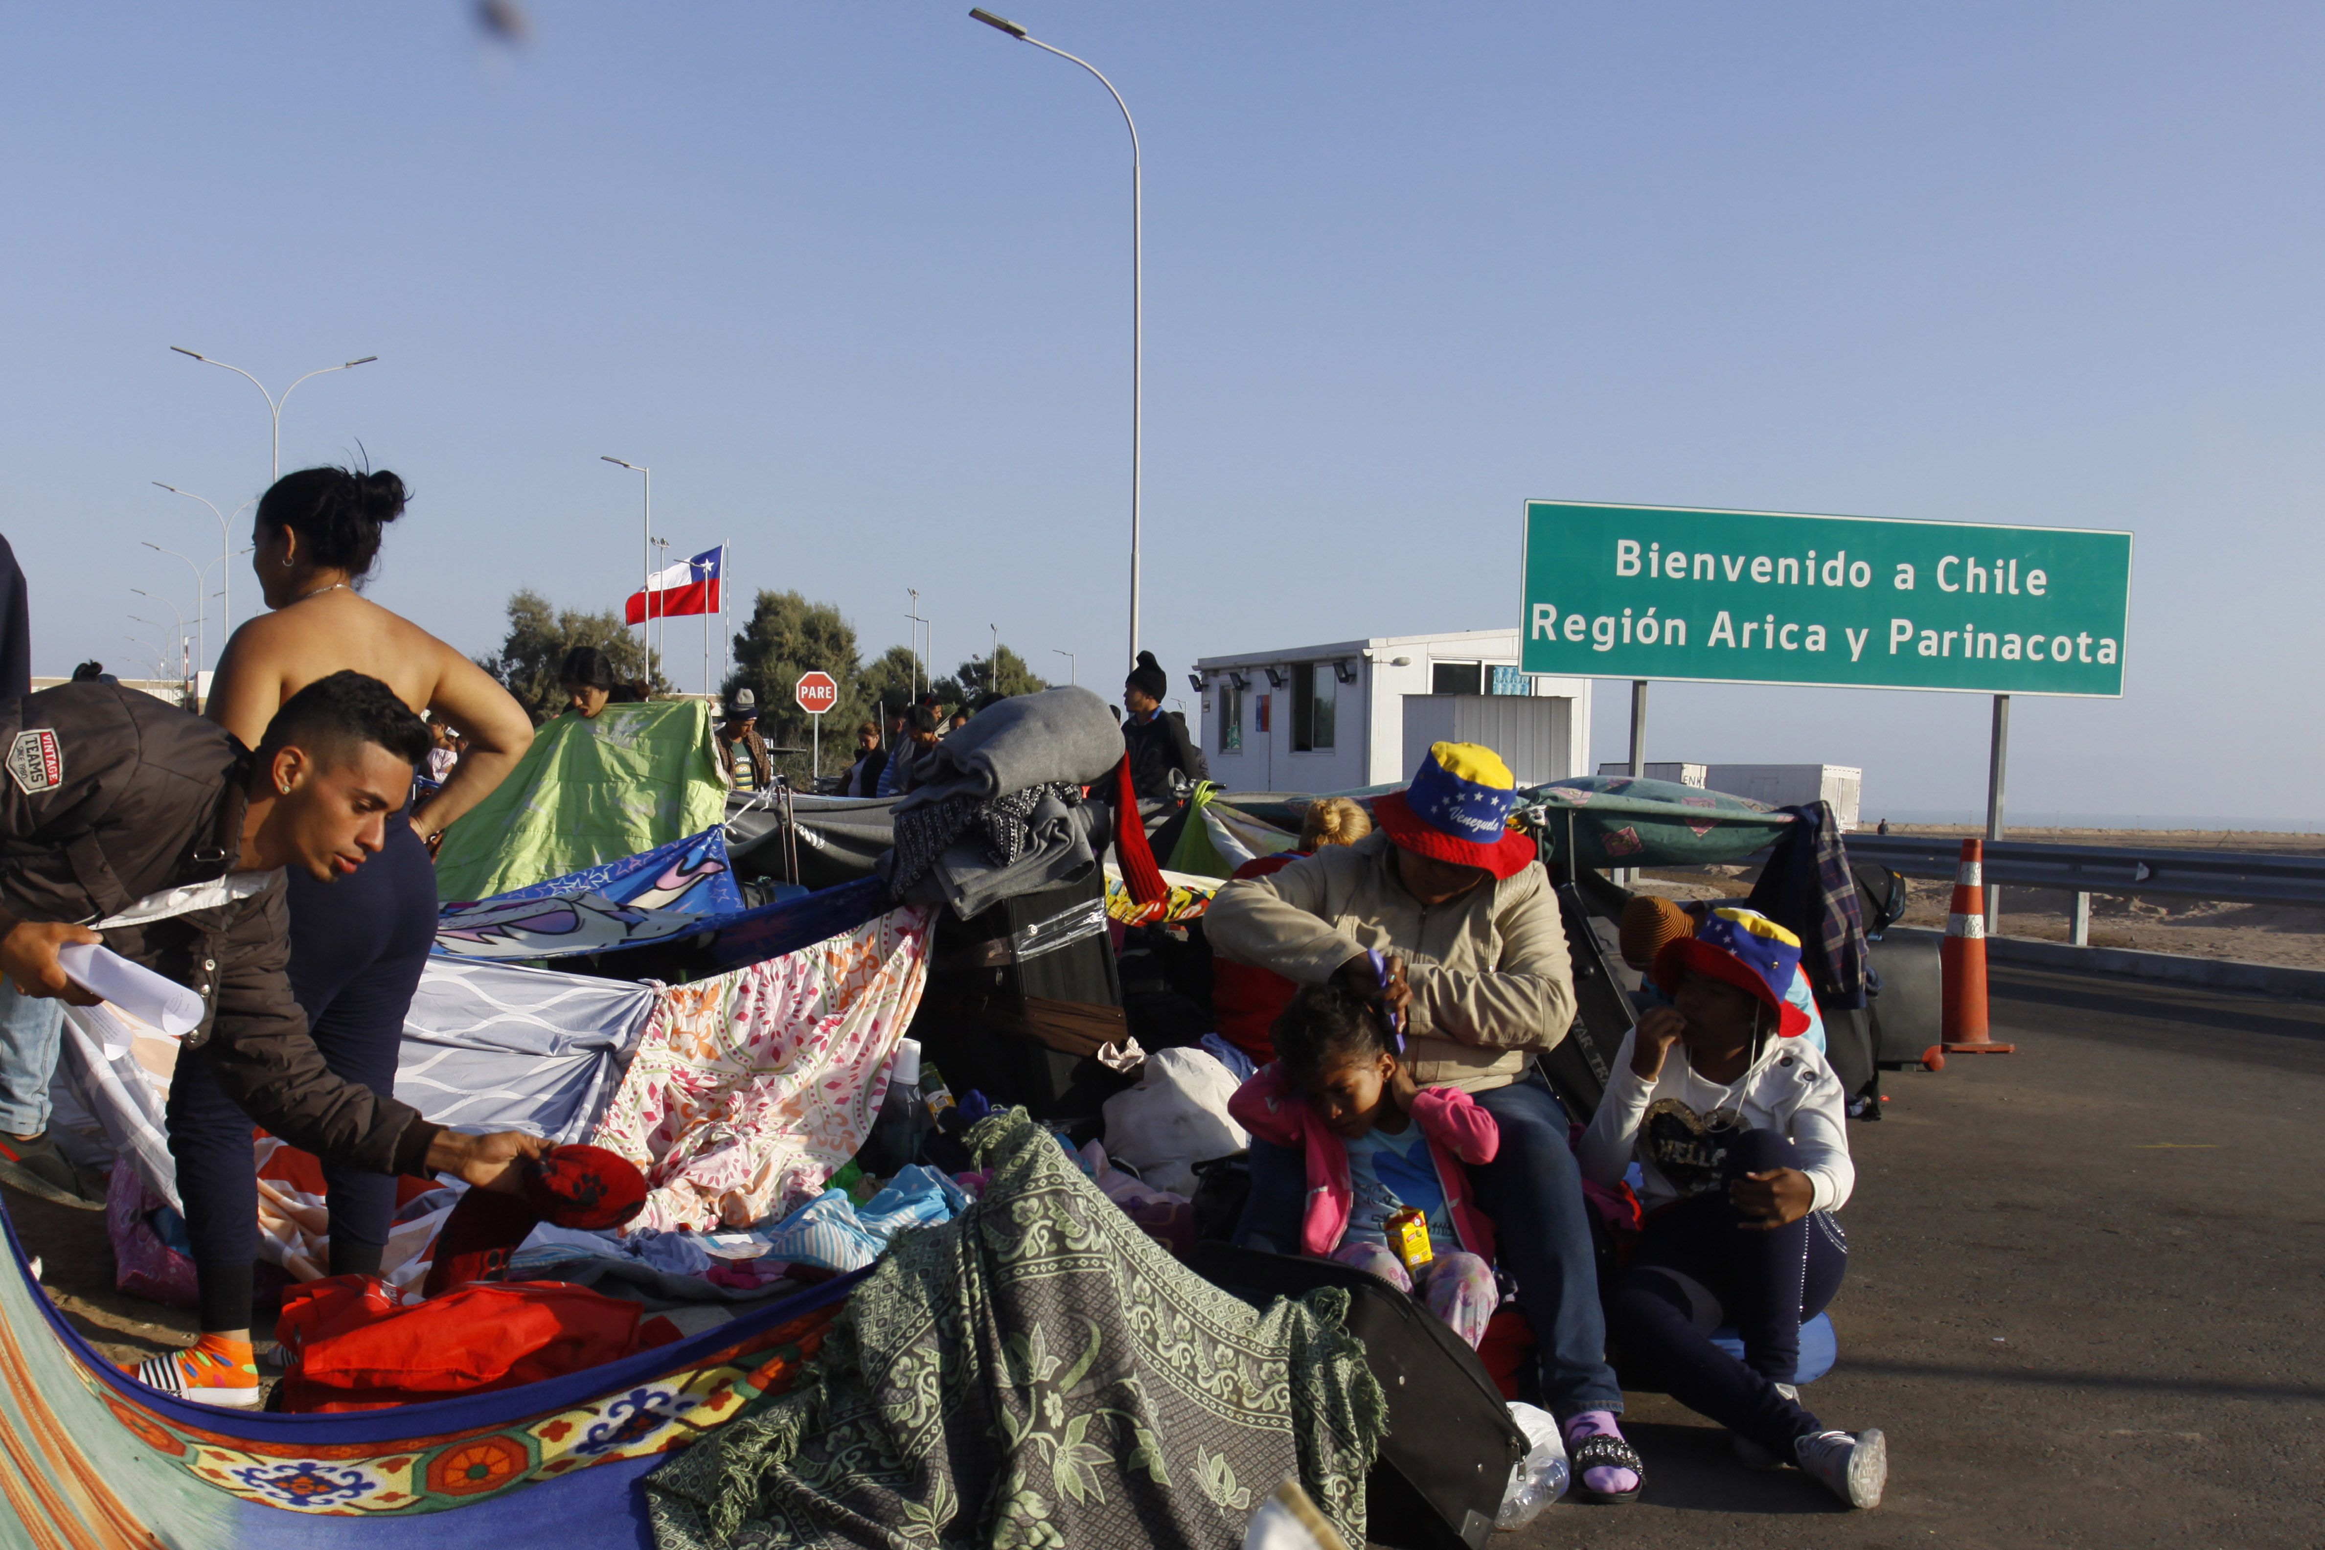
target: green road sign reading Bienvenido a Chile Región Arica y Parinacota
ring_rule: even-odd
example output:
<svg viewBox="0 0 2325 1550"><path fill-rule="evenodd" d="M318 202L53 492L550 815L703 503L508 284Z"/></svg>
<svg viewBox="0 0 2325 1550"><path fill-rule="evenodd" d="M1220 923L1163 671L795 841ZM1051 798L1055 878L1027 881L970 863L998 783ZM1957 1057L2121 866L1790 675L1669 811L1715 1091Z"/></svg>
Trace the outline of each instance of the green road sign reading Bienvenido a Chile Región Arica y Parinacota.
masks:
<svg viewBox="0 0 2325 1550"><path fill-rule="evenodd" d="M1530 674L2123 695L2132 534L1525 502Z"/></svg>

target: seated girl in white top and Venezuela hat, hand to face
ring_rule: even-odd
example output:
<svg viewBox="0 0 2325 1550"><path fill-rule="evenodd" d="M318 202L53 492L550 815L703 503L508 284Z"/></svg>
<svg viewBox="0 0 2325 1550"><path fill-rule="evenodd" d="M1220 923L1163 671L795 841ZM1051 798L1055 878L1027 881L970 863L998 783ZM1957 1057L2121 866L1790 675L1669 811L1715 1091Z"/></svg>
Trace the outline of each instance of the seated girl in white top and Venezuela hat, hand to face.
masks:
<svg viewBox="0 0 2325 1550"><path fill-rule="evenodd" d="M1809 1020L1786 1002L1800 939L1748 909L1716 909L1655 953L1672 997L1639 1018L1581 1143L1586 1178L1637 1160L1646 1222L1607 1297L1623 1371L1737 1434L1755 1466L1800 1464L1851 1506L1879 1506L1879 1431L1830 1431L1793 1390L1800 1322L1841 1285L1848 1239L1846 1097ZM1737 1362L1711 1343L1734 1325Z"/></svg>

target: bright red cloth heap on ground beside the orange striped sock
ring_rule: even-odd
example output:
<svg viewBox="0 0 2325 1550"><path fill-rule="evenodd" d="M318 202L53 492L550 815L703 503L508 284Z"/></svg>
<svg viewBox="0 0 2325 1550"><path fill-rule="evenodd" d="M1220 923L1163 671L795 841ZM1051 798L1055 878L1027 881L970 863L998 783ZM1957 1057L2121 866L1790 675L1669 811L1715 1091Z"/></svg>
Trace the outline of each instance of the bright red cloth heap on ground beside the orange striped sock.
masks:
<svg viewBox="0 0 2325 1550"><path fill-rule="evenodd" d="M488 1394L602 1366L679 1339L677 1325L621 1297L556 1280L467 1285L419 1301L377 1276L293 1287L274 1339L284 1408L377 1411Z"/></svg>

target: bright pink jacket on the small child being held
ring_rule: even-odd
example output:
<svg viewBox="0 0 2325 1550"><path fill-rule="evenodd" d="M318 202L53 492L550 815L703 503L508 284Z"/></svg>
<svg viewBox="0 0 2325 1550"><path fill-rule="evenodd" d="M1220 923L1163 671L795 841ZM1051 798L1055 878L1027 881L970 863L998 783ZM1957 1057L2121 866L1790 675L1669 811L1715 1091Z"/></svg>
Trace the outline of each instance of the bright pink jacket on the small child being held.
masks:
<svg viewBox="0 0 2325 1550"><path fill-rule="evenodd" d="M1300 1222L1300 1253L1325 1260L1348 1234L1348 1213L1355 1208L1355 1185L1348 1171L1348 1143L1302 1099L1283 1062L1258 1069L1235 1097L1228 1113L1260 1141L1297 1146L1307 1157L1309 1204ZM1502 1150L1502 1127L1493 1122L1460 1088L1423 1088L1414 1095L1414 1125L1430 1143L1430 1162L1437 1167L1437 1187L1446 1192L1446 1215L1453 1218L1453 1236L1472 1255L1493 1264L1493 1222L1469 1199L1469 1174L1465 1162L1493 1162Z"/></svg>

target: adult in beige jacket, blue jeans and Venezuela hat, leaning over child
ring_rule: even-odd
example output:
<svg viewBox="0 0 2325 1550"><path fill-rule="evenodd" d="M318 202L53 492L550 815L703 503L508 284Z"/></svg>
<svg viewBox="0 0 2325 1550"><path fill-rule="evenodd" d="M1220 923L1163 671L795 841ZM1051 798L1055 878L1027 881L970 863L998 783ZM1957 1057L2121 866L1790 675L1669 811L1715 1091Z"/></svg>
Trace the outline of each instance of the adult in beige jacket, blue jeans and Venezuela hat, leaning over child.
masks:
<svg viewBox="0 0 2325 1550"><path fill-rule="evenodd" d="M1535 1327L1541 1404L1565 1431L1576 1494L1630 1501L1639 1455L1616 1427L1623 1390L1607 1366L1581 1174L1567 1115L1532 1071L1567 1036L1574 976L1535 844L1507 827L1516 788L1493 748L1437 744L1404 792L1372 804L1372 834L1228 883L1204 934L1228 962L1295 985L1337 978L1379 1002L1402 1018L1414 1083L1460 1088L1493 1115L1500 1150L1467 1176ZM1297 1253L1304 1197L1302 1153L1253 1136L1237 1243Z"/></svg>

